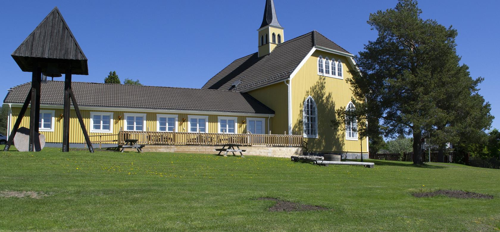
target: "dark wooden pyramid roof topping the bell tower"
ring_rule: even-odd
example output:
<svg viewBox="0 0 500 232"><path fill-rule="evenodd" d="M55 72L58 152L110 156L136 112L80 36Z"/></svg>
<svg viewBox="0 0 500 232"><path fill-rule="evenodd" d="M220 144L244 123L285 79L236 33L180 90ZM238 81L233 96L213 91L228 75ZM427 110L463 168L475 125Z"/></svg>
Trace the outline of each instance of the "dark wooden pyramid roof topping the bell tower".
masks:
<svg viewBox="0 0 500 232"><path fill-rule="evenodd" d="M87 57L57 7L48 13L11 56L24 72L31 72L33 59L37 59L39 64L69 62L72 74L88 75ZM45 66L40 67L44 72Z"/></svg>

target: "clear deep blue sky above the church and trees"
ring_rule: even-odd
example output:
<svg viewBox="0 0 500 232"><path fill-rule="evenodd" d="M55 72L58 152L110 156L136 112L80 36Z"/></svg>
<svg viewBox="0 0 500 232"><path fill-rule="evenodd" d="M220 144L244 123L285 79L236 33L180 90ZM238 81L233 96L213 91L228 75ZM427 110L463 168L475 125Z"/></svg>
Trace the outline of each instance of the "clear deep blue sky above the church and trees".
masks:
<svg viewBox="0 0 500 232"><path fill-rule="evenodd" d="M366 24L369 13L396 2L274 0L285 40L317 30L353 54L376 38ZM88 58L89 75L73 81L103 82L115 70L122 81L199 88L232 60L257 51L264 0L2 1L1 96L30 81L10 54L54 6ZM457 52L472 77L484 77L479 93L498 118L492 127L500 128L500 1L421 0L419 6L423 18L458 30Z"/></svg>

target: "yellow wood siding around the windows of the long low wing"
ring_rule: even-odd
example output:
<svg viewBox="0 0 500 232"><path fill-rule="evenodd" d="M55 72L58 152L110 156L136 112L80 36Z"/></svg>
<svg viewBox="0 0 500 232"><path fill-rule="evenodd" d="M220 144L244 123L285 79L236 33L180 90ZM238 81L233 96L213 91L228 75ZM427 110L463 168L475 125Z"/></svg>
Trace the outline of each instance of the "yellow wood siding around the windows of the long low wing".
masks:
<svg viewBox="0 0 500 232"><path fill-rule="evenodd" d="M41 110L55 110L55 120L54 120L54 131L40 131L40 134L45 135L45 141L48 143L62 143L62 119L59 115L62 114L62 109L54 109L54 108L45 108L40 107ZM12 125L10 130L12 130L13 124L19 115L20 107L12 107ZM236 127L237 133L243 134L246 133L246 122L243 124L243 120L246 121L246 118L262 118L265 119L265 128L264 131L267 130L267 117L258 117L258 116L232 116L230 114L220 114L220 115L204 115L204 114L175 114L175 113L167 113L167 112L130 112L130 111L112 111L112 110L80 110L81 116L83 118L83 122L85 124L85 128L87 130L88 135L111 135L118 134L120 130L124 129L124 114L125 113L143 113L146 114L146 123L145 130L146 131L156 131L156 115L157 114L169 114L169 115L177 115L178 116L178 130L177 132L188 132L187 128L187 120L188 115L202 115L208 116L208 133L217 133L218 129L218 117L237 117ZM112 133L90 133L90 112L112 112L113 113L113 131ZM118 120L118 117L121 116L121 120ZM83 133L81 132L80 124L78 122L78 118L76 117L76 113L73 109L71 109L70 114L70 122L69 122L69 142L70 143L84 143L85 138L83 137ZM185 122L182 119L185 118ZM26 111L26 115L22 118L20 127L29 128L29 108Z"/></svg>

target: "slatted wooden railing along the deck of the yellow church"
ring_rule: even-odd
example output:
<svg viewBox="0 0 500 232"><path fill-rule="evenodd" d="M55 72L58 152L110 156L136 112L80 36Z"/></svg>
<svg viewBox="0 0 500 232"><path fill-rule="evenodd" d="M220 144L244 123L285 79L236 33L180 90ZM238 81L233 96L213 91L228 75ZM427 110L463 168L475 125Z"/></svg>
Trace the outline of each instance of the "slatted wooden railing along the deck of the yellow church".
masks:
<svg viewBox="0 0 500 232"><path fill-rule="evenodd" d="M126 139L137 139L138 144L151 145L216 146L232 143L243 146L302 146L301 135L120 131L118 133L118 144L123 144Z"/></svg>

